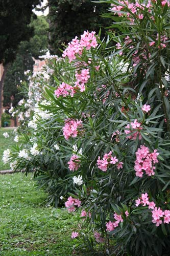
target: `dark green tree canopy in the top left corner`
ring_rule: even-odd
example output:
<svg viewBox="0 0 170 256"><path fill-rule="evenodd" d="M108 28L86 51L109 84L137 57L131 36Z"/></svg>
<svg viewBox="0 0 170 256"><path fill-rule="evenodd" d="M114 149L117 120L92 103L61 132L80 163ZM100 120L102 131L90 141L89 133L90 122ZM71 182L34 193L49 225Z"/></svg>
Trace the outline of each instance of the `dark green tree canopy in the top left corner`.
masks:
<svg viewBox="0 0 170 256"><path fill-rule="evenodd" d="M42 0L0 0L0 63L15 58L20 41L27 40L33 33L28 26L32 10Z"/></svg>

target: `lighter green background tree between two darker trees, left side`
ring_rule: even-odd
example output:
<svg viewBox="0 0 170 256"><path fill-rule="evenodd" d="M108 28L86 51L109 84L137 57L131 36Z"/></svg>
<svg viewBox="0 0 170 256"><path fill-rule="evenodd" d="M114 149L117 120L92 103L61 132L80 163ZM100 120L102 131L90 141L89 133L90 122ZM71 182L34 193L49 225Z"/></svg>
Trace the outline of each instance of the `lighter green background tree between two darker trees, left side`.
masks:
<svg viewBox="0 0 170 256"><path fill-rule="evenodd" d="M34 36L29 41L21 41L15 60L9 64L3 87L3 105L15 106L23 97L18 92L21 81L26 79L25 71L33 70L34 58L44 55L48 47L48 23L45 16L31 19L30 27L34 28Z"/></svg>

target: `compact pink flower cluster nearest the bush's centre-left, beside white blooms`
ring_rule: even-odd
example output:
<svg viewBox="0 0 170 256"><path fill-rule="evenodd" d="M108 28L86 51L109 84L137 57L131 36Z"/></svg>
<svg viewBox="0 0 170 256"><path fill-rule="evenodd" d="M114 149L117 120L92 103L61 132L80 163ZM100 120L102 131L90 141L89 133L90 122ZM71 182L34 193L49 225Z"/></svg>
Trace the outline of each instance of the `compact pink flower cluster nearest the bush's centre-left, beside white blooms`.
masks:
<svg viewBox="0 0 170 256"><path fill-rule="evenodd" d="M77 137L79 130L82 128L82 121L80 120L70 120L67 119L65 121L65 125L63 127L63 135L66 140L70 137Z"/></svg>

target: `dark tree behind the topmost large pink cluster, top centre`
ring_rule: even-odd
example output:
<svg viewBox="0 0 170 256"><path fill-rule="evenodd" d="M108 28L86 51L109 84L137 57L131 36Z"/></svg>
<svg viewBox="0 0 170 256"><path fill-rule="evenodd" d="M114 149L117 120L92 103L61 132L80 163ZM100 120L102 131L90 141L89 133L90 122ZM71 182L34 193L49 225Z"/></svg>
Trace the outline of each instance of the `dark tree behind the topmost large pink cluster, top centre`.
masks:
<svg viewBox="0 0 170 256"><path fill-rule="evenodd" d="M61 44L67 44L83 31L98 32L100 27L110 25L108 19L100 16L106 12L106 4L96 4L90 0L48 0L48 7L49 43L52 54L61 54L58 50L62 48Z"/></svg>

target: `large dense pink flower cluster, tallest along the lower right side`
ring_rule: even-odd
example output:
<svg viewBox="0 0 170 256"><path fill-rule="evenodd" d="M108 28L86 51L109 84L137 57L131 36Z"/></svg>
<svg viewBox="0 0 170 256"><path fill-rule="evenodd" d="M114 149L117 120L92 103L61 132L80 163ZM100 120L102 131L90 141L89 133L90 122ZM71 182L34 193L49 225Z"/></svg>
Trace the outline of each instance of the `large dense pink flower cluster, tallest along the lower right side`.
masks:
<svg viewBox="0 0 170 256"><path fill-rule="evenodd" d="M135 172L136 176L142 177L143 170L148 176L154 175L155 163L158 163L158 155L157 150L154 150L153 153L150 153L149 148L144 145L140 145L136 154L136 161L135 161Z"/></svg>

